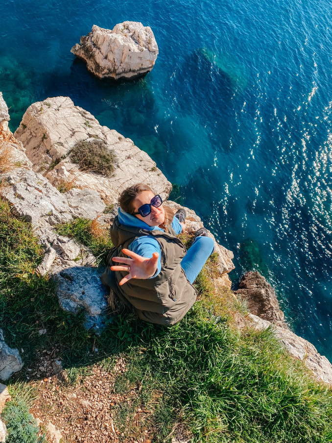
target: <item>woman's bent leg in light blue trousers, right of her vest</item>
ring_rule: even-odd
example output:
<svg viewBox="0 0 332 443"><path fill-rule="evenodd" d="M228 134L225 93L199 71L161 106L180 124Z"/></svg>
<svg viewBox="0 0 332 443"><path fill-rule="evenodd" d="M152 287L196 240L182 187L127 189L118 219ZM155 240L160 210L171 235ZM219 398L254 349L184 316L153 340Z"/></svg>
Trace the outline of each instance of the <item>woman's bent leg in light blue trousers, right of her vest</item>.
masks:
<svg viewBox="0 0 332 443"><path fill-rule="evenodd" d="M181 261L190 283L193 283L209 256L213 253L214 241L211 237L196 237L187 254Z"/></svg>

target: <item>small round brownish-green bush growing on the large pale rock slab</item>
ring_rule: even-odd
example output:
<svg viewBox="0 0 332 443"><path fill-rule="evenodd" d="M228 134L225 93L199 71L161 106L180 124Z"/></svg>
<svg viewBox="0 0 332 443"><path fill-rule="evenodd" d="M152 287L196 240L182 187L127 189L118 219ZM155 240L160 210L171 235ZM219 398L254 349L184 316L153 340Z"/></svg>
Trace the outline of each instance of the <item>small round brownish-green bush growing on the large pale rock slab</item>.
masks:
<svg viewBox="0 0 332 443"><path fill-rule="evenodd" d="M71 149L71 160L81 171L94 171L110 176L114 171L115 154L100 139L82 140Z"/></svg>

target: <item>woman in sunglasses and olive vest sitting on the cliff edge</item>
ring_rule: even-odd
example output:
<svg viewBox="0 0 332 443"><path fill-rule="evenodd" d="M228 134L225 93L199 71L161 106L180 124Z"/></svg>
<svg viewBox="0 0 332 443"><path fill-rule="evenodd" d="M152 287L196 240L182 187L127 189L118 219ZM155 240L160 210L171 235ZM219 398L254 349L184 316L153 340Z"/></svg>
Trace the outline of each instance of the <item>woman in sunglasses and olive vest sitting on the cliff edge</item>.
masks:
<svg viewBox="0 0 332 443"><path fill-rule="evenodd" d="M111 227L115 248L101 280L129 302L140 319L175 324L196 299L192 283L213 252L213 239L201 228L187 252L176 237L185 230L185 210L179 209L174 217L162 198L143 183L125 189L119 205Z"/></svg>

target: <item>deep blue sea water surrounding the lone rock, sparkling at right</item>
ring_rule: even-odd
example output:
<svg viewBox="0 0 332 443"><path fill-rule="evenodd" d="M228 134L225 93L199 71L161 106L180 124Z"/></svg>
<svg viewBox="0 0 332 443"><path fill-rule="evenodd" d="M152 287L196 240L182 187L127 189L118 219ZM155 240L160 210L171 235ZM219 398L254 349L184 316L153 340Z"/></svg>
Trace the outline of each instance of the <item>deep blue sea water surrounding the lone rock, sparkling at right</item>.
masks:
<svg viewBox="0 0 332 443"><path fill-rule="evenodd" d="M233 281L261 271L332 361L331 3L287 3L2 0L0 91L13 131L63 95L146 150L234 251ZM124 20L151 26L156 65L99 81L70 49Z"/></svg>

